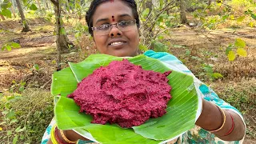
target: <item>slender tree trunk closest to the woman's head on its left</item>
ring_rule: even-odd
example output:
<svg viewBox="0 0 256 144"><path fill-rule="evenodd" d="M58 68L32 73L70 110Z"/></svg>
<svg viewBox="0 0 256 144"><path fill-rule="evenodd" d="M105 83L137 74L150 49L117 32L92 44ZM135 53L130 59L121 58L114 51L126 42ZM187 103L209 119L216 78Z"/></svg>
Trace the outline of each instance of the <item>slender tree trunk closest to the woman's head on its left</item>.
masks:
<svg viewBox="0 0 256 144"><path fill-rule="evenodd" d="M56 21L56 49L57 49L57 61L56 69L61 70L61 54L69 48L68 38L66 37L66 32L63 27L63 22L61 18L61 5L59 0L50 0L54 4L54 14Z"/></svg>

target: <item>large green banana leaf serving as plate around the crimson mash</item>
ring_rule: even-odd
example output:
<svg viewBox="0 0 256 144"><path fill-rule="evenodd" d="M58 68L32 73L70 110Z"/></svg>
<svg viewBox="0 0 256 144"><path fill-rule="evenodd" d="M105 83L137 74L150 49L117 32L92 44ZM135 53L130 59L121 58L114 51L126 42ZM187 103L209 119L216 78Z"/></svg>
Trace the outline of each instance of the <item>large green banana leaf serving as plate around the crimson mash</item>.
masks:
<svg viewBox="0 0 256 144"><path fill-rule="evenodd" d="M144 70L165 72L170 70L162 62L154 58L138 55L127 58L135 65L140 65ZM177 137L194 127L198 110L198 96L194 87L193 78L190 75L177 71L167 77L172 86L172 99L168 102L167 113L161 118L150 118L141 126L132 129L123 129L116 125L91 124L89 115L79 113L73 99L66 98L77 87L82 78L92 74L100 66L107 66L112 61L121 61L122 58L106 55L92 54L78 64L69 63L66 68L54 73L51 92L54 95L62 95L58 98L54 107L54 114L58 128L62 130L76 129L89 132L98 142L102 143L159 143Z"/></svg>

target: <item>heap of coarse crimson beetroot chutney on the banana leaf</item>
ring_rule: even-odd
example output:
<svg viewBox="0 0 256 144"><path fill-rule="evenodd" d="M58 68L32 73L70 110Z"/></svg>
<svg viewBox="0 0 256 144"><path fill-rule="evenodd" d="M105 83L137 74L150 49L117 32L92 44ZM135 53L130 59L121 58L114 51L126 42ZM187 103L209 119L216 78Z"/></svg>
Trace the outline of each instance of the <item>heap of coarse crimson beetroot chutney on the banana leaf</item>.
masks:
<svg viewBox="0 0 256 144"><path fill-rule="evenodd" d="M93 116L92 123L118 123L122 127L138 126L149 118L166 114L171 87L164 74L142 70L128 60L110 62L94 70L78 83L70 94L80 112Z"/></svg>

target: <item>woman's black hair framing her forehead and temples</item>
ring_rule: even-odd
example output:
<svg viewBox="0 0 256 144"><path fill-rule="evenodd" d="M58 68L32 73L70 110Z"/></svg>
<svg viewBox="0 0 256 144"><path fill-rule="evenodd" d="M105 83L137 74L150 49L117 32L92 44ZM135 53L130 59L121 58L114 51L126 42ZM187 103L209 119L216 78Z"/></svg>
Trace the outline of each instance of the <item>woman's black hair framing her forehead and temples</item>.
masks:
<svg viewBox="0 0 256 144"><path fill-rule="evenodd" d="M111 0L93 0L93 2L90 3L90 8L86 12L86 22L87 22L87 25L89 28L89 33L91 36L94 36L93 30L91 29L91 27L93 26L93 16L94 16L94 12L95 12L96 8L103 2L109 2L109 1L111 1ZM139 22L139 18L138 18L138 10L137 10L136 2L134 0L122 0L122 2L125 2L131 8L131 10L134 14L134 18L136 19L137 27L139 28L140 22Z"/></svg>

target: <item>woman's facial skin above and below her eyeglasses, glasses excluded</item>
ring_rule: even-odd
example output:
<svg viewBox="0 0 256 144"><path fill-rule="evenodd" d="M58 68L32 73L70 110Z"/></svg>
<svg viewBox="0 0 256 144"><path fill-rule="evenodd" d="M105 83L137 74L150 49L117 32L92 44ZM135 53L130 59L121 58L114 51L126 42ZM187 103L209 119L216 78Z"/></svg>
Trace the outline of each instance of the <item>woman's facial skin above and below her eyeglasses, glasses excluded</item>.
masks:
<svg viewBox="0 0 256 144"><path fill-rule="evenodd" d="M120 0L103 2L93 16L93 26L103 24L115 24L121 21L134 20L132 10L126 3ZM102 54L110 54L118 57L135 56L138 51L139 34L135 24L128 31L121 31L112 26L110 32L98 35L94 31L94 42Z"/></svg>

